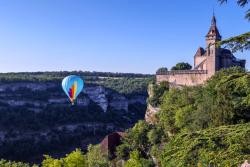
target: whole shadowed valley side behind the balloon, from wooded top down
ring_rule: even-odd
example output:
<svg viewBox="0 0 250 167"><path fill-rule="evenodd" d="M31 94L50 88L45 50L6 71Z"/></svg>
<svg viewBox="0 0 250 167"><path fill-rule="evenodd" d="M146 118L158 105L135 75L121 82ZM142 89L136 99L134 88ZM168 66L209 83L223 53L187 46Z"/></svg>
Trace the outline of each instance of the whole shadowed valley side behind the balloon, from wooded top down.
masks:
<svg viewBox="0 0 250 167"><path fill-rule="evenodd" d="M67 75L86 86L71 106L61 86ZM39 162L86 149L143 119L151 75L102 72L0 73L0 158ZM13 151L18 150L18 151Z"/></svg>

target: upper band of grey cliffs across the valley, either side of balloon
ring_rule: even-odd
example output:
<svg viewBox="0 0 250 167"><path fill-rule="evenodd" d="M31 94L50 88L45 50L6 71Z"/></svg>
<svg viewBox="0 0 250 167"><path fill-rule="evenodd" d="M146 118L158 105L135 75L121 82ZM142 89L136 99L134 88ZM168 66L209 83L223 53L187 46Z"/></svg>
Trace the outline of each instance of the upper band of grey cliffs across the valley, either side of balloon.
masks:
<svg viewBox="0 0 250 167"><path fill-rule="evenodd" d="M0 103L5 106L32 106L35 112L47 105L68 105L69 100L61 90L60 83L15 82L0 84ZM98 105L103 112L108 109L128 112L129 105L140 103L146 105L145 96L127 98L103 86L86 86L77 98L77 105L88 106L91 102ZM32 110L32 109L31 109Z"/></svg>

